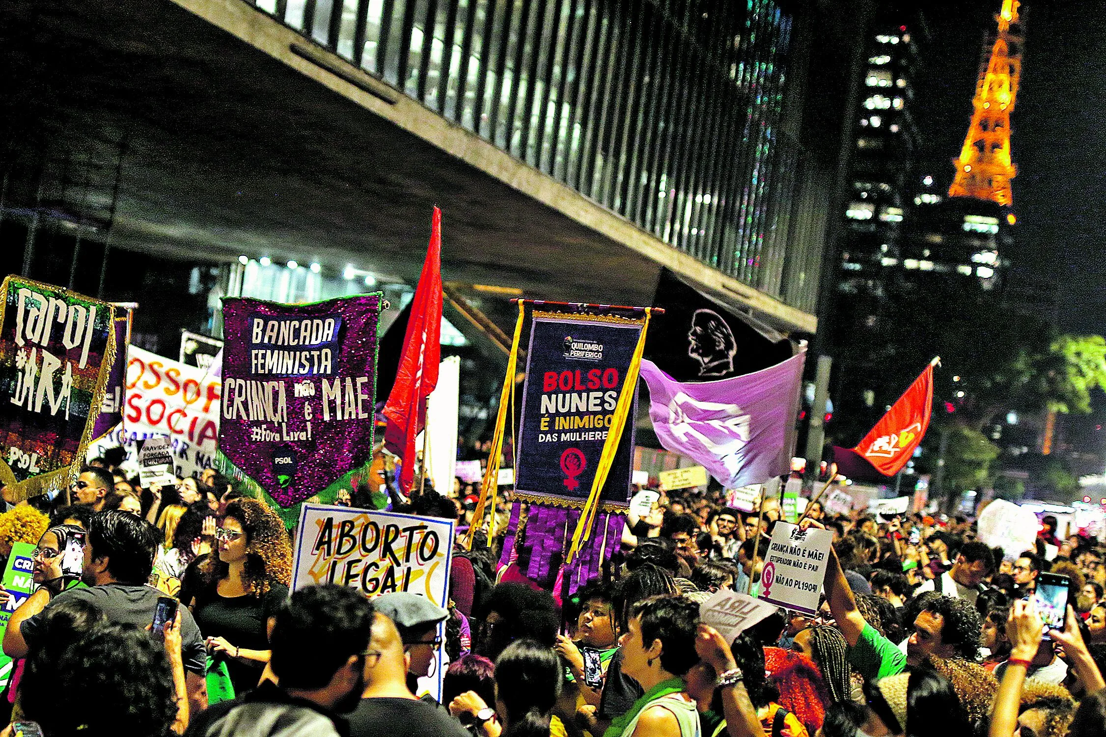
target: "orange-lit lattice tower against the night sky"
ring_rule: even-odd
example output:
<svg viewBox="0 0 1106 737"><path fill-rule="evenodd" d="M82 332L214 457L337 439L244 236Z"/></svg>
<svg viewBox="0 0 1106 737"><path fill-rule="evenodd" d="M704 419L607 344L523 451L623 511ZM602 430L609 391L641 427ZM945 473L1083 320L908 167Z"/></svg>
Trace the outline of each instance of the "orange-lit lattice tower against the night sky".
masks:
<svg viewBox="0 0 1106 737"><path fill-rule="evenodd" d="M993 45L983 49L971 126L960 158L953 159L957 176L949 197L971 197L1003 207L1013 204L1010 180L1018 173L1010 160L1010 114L1018 99L1022 71L1022 23L1019 0L1003 0L995 17L999 32Z"/></svg>

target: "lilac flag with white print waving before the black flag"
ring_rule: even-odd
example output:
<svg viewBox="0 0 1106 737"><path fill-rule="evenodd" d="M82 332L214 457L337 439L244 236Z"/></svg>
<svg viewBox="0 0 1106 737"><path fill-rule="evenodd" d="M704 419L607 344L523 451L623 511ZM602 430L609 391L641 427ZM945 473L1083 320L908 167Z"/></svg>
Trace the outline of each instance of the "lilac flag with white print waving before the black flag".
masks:
<svg viewBox="0 0 1106 737"><path fill-rule="evenodd" d="M643 360L660 444L701 463L726 488L787 473L805 360L804 347L753 373L693 382L676 381Z"/></svg>

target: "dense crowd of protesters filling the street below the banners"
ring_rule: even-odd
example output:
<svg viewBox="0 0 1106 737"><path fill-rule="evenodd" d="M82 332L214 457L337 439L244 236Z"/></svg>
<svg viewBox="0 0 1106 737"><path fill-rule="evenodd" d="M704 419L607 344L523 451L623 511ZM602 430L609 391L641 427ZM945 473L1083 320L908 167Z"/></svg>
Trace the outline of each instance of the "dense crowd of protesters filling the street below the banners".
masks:
<svg viewBox="0 0 1106 737"><path fill-rule="evenodd" d="M601 579L562 596L497 564L503 536L487 530L505 528L510 495L474 520L470 494L390 499L477 527L453 551L448 609L290 593L283 522L212 470L139 488L94 462L69 506L6 494L0 556L35 546L36 588L0 591L0 737L1106 735L1102 547L1058 539L1054 518L1004 556L961 517L812 503L801 526L834 538L817 615L780 609L728 642L700 604L755 596L775 499L745 513L721 492L661 492ZM63 565L73 540L80 575ZM1050 572L1070 582L1063 629L1033 603ZM441 646L444 676L425 678Z"/></svg>

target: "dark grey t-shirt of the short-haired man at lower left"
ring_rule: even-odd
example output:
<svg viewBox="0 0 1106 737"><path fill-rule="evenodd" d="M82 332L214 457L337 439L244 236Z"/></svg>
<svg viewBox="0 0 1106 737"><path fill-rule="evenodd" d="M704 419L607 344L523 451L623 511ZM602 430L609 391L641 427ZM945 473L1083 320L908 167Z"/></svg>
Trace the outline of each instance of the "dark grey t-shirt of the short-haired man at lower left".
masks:
<svg viewBox="0 0 1106 737"><path fill-rule="evenodd" d="M51 599L41 612L23 620L19 631L29 647L32 650L38 647L42 620L50 608L56 606L59 601L75 601L77 599L97 607L109 622L145 628L154 622L157 599L164 596L149 586L128 586L125 583L105 583L87 589L69 589ZM207 647L199 628L196 627L196 620L192 619L191 612L184 607L180 608L180 650L184 655L185 670L204 675L207 671Z"/></svg>

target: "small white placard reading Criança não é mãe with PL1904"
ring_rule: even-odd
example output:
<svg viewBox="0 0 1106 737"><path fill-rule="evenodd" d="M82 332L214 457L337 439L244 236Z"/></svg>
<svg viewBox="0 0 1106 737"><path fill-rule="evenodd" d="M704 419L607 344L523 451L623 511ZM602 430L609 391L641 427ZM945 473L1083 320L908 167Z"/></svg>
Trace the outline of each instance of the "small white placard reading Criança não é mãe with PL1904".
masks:
<svg viewBox="0 0 1106 737"><path fill-rule="evenodd" d="M778 522L764 554L760 598L806 614L818 609L833 533Z"/></svg>

